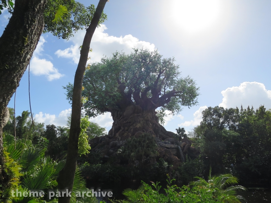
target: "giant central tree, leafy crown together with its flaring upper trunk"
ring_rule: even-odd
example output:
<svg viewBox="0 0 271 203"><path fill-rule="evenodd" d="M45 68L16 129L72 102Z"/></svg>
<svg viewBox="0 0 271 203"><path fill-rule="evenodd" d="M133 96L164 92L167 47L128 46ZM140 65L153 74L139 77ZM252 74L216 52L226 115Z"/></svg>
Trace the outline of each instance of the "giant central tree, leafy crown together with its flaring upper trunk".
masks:
<svg viewBox="0 0 271 203"><path fill-rule="evenodd" d="M65 87L73 105L72 88L72 84ZM165 139L174 133L159 124L156 109L178 113L182 106L197 104L198 90L192 78L180 77L174 58L163 58L157 50L135 49L89 64L83 79L83 107L89 116L111 112L110 138L125 140L150 133Z"/></svg>

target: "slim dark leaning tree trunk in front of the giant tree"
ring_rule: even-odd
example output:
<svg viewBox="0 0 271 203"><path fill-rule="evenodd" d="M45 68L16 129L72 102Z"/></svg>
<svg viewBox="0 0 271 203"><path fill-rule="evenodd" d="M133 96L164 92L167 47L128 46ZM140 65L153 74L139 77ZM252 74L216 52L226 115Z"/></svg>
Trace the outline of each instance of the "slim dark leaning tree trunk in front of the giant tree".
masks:
<svg viewBox="0 0 271 203"><path fill-rule="evenodd" d="M62 171L59 173L57 179L59 191L72 191L73 181L76 171L76 160L78 157L78 139L80 134L80 119L81 119L81 93L82 93L82 81L86 70L86 63L88 61L88 54L92 36L104 10L104 6L107 0L100 0L96 8L95 14L91 21L91 24L86 30L85 38L80 51L80 59L75 72L74 84L73 84L73 96L72 96L72 116L70 125L70 134L67 150L66 164ZM68 196L68 195L66 195ZM59 203L69 203L70 197L60 197Z"/></svg>

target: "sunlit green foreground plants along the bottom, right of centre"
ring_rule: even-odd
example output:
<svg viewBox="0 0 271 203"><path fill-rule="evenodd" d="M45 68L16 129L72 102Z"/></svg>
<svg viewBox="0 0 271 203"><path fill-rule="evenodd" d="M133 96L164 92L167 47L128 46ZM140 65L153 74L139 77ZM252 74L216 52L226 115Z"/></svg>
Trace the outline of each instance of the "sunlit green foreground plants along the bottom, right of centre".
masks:
<svg viewBox="0 0 271 203"><path fill-rule="evenodd" d="M122 203L135 202L182 202L182 203L215 203L228 202L240 203L241 196L236 195L236 190L245 190L242 186L230 186L238 183L237 178L230 175L209 176L208 181L197 177L199 180L191 182L191 186L182 186L181 188L172 185L169 175L167 180L167 187L164 191L160 191L160 182L152 182L152 186L142 181L142 186L137 190L125 189L123 194L127 200L116 201ZM229 187L228 187L229 186Z"/></svg>

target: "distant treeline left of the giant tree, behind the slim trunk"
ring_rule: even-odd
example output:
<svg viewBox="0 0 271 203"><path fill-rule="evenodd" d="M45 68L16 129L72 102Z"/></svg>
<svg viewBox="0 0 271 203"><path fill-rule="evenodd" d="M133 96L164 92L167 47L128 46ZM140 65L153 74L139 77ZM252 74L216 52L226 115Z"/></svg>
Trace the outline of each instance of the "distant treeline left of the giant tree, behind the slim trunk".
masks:
<svg viewBox="0 0 271 203"><path fill-rule="evenodd" d="M7 125L4 127L4 132L15 135L14 133L14 109L9 108L10 118ZM15 130L17 138L27 138L33 144L38 144L44 138L48 141L45 155L50 156L54 161L61 160L66 156L68 149L69 127L61 127L55 125L46 125L34 121L35 127L31 127L30 112L23 111L20 116L16 116ZM70 125L70 116L68 117L67 125ZM79 136L79 154L89 153L91 149L88 142L94 136L105 135L106 129L100 127L97 123L89 122L88 117L83 117L80 122L81 133Z"/></svg>

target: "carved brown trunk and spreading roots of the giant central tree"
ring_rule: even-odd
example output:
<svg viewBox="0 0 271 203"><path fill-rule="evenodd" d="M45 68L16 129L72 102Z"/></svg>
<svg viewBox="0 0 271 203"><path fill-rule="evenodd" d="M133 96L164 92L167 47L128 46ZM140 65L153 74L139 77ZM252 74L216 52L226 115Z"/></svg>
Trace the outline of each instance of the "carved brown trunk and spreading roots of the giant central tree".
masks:
<svg viewBox="0 0 271 203"><path fill-rule="evenodd" d="M106 162L109 157L117 156L118 149L125 146L128 138L139 137L143 133L149 133L156 138L159 152L156 158L163 158L164 161L173 165L171 171L177 169L179 163L184 161L183 153L191 158L199 155L199 151L191 147L191 142L187 138L179 142L176 139L177 134L167 131L159 124L153 108L143 107L143 109L140 105L134 104L120 106L122 110L111 110L114 122L108 135L90 140L92 152L98 153L101 161ZM121 163L121 160L116 159L116 163Z"/></svg>

